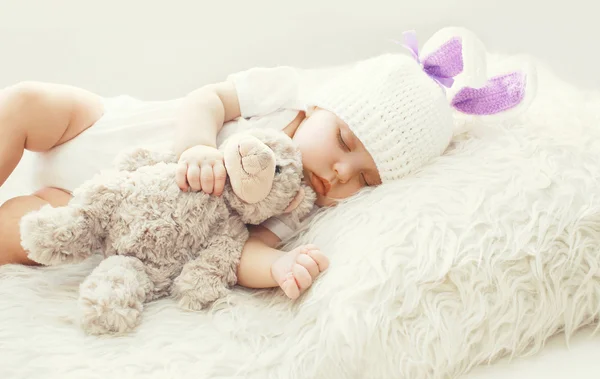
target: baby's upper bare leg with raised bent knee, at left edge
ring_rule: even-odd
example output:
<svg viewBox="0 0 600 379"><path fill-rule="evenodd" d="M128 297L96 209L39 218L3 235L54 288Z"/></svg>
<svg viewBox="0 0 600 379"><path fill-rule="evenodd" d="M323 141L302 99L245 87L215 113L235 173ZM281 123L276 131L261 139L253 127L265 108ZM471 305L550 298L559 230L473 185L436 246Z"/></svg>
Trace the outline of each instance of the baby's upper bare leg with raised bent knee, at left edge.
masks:
<svg viewBox="0 0 600 379"><path fill-rule="evenodd" d="M104 112L98 95L48 83L21 83L0 90L0 186L23 150L41 152L93 125Z"/></svg>

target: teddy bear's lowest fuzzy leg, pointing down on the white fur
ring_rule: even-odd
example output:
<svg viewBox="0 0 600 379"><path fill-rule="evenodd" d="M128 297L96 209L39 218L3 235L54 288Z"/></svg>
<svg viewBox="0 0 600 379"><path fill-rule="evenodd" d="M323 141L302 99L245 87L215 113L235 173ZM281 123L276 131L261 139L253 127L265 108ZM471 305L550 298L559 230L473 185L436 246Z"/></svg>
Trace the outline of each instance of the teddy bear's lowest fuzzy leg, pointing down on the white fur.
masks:
<svg viewBox="0 0 600 379"><path fill-rule="evenodd" d="M79 289L81 327L89 334L124 333L141 321L154 285L137 258L113 255Z"/></svg>

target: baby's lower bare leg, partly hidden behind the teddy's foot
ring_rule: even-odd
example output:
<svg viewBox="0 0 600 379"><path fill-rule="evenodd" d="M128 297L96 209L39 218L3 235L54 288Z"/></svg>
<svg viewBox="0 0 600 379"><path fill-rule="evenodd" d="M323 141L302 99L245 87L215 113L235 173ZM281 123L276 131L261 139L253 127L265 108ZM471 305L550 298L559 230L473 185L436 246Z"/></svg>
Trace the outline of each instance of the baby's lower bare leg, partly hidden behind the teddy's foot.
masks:
<svg viewBox="0 0 600 379"><path fill-rule="evenodd" d="M21 247L19 222L25 214L44 205L67 205L71 195L56 188L44 188L33 195L10 199L0 206L0 265L9 263L36 264L27 258Z"/></svg>

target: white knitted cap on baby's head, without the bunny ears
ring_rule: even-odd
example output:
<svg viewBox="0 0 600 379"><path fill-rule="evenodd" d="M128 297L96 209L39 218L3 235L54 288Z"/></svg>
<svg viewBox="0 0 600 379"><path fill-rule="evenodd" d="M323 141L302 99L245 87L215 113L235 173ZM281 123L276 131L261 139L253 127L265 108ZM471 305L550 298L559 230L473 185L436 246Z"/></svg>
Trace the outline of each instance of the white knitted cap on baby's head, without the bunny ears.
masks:
<svg viewBox="0 0 600 379"><path fill-rule="evenodd" d="M411 57L386 54L327 83L309 106L335 113L373 156L384 183L441 155L452 138L442 88Z"/></svg>

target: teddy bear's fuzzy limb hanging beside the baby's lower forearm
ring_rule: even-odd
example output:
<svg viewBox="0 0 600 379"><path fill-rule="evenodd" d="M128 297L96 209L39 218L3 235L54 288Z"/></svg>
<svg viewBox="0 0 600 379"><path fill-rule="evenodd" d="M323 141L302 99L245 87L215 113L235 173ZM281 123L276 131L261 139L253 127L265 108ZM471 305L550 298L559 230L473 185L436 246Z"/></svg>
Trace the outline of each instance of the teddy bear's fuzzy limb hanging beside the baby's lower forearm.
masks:
<svg viewBox="0 0 600 379"><path fill-rule="evenodd" d="M200 256L183 266L173 283L173 295L184 309L207 307L237 282L237 266L243 242L231 237L218 237Z"/></svg>

